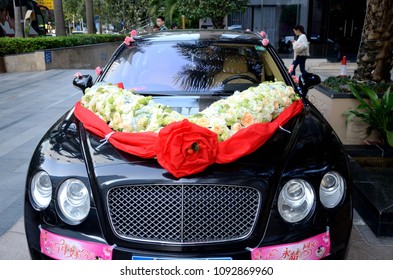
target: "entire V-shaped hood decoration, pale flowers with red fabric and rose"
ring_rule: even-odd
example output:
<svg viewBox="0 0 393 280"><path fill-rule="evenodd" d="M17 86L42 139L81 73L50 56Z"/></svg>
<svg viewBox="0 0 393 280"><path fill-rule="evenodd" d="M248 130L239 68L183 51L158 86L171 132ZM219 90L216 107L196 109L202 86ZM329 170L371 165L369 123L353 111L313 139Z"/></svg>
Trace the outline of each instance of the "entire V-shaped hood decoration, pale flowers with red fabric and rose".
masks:
<svg viewBox="0 0 393 280"><path fill-rule="evenodd" d="M103 138L97 150L109 142L123 152L156 158L181 178L254 152L302 109L293 88L283 82L237 91L188 118L151 96L96 84L86 89L74 114L85 129Z"/></svg>

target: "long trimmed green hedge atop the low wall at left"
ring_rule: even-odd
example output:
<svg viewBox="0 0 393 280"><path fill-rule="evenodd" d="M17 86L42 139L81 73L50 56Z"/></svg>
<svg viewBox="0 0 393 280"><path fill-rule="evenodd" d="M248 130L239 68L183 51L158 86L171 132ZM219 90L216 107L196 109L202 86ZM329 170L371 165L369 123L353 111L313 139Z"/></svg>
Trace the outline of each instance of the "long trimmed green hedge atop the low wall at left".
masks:
<svg viewBox="0 0 393 280"><path fill-rule="evenodd" d="M81 34L60 37L0 38L0 55L30 53L38 50L122 42L125 35Z"/></svg>

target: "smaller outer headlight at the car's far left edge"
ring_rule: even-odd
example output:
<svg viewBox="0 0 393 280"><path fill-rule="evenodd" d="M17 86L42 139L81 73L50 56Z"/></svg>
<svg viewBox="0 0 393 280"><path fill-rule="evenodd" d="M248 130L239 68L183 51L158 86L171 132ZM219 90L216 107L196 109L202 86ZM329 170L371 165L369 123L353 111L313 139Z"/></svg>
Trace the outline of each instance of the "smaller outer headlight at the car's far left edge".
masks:
<svg viewBox="0 0 393 280"><path fill-rule="evenodd" d="M52 198L52 182L48 173L39 171L34 174L30 185L30 202L37 210L48 207Z"/></svg>

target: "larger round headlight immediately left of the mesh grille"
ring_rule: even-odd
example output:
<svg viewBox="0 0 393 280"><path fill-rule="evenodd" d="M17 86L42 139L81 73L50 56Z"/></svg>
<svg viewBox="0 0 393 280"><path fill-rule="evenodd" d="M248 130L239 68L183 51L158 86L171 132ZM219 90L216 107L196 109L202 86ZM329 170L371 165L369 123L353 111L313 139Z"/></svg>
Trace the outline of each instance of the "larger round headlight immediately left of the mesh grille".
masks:
<svg viewBox="0 0 393 280"><path fill-rule="evenodd" d="M68 179L57 193L60 217L70 225L80 224L89 214L90 196L85 184L78 179Z"/></svg>

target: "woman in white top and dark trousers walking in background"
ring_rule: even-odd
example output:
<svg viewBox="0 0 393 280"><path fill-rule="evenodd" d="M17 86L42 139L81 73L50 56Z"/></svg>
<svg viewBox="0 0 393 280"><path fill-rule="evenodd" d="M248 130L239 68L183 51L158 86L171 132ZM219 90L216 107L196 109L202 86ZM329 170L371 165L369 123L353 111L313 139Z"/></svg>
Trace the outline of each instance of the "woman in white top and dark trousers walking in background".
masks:
<svg viewBox="0 0 393 280"><path fill-rule="evenodd" d="M307 74L306 59L310 55L309 42L302 25L295 25L293 32L297 39L292 40L294 59L288 72L291 76L296 76L296 67L299 65L300 72L305 76Z"/></svg>

